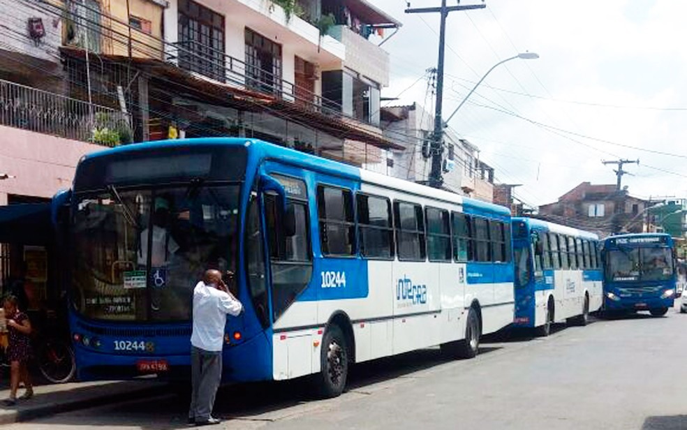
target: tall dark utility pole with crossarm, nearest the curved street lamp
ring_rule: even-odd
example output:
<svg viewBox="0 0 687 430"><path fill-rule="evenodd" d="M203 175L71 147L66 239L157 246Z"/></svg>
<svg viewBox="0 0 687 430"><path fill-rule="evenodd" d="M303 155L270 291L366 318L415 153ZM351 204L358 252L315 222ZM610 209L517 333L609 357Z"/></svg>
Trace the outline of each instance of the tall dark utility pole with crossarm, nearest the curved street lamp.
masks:
<svg viewBox="0 0 687 430"><path fill-rule="evenodd" d="M443 101L443 68L446 40L446 17L450 12L457 10L484 9L487 5L473 4L468 6L446 6L446 0L441 0L438 8L410 8L406 13L440 13L441 26L439 27L439 58L436 66L436 105L434 109L434 134L431 138L431 171L429 172L429 186L441 188L443 177L441 176L441 153L443 152L443 120L441 119L441 105Z"/></svg>

